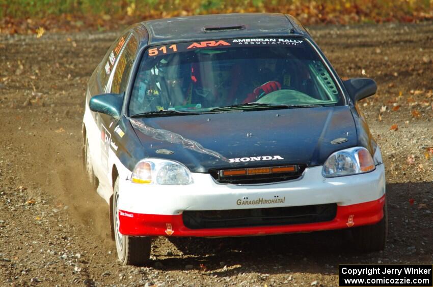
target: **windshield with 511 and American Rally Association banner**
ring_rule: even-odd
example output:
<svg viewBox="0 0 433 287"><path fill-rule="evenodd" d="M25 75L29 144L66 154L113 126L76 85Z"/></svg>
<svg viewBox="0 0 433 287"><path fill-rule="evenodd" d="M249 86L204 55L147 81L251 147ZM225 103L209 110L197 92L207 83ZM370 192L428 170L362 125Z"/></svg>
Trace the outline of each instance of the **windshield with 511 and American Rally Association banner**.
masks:
<svg viewBox="0 0 433 287"><path fill-rule="evenodd" d="M343 105L344 100L304 39L224 39L147 49L129 114L209 112L245 103L311 106Z"/></svg>

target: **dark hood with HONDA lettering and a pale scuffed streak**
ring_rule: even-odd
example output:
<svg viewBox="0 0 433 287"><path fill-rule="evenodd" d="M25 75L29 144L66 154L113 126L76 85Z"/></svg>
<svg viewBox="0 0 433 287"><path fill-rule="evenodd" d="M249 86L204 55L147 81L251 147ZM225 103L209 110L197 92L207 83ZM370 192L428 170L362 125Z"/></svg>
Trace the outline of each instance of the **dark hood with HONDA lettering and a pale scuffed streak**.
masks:
<svg viewBox="0 0 433 287"><path fill-rule="evenodd" d="M284 164L317 166L332 152L357 144L355 122L347 106L130 121L149 157L178 161L192 172Z"/></svg>

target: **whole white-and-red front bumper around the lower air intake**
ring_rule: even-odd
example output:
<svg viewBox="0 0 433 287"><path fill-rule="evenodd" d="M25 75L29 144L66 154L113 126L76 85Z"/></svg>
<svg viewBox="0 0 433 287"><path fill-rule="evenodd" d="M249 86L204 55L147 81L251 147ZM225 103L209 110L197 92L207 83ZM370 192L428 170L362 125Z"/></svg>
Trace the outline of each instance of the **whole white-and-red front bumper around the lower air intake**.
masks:
<svg viewBox="0 0 433 287"><path fill-rule="evenodd" d="M120 182L120 233L129 236L248 236L342 229L375 224L383 218L385 169L323 178L321 167L307 168L300 179L263 185L228 185L209 174L193 174L191 185L141 185ZM262 200L260 200L262 199ZM275 200L284 199L284 200ZM240 204L247 202L250 204ZM184 210L231 210L336 203L331 221L287 226L188 229Z"/></svg>

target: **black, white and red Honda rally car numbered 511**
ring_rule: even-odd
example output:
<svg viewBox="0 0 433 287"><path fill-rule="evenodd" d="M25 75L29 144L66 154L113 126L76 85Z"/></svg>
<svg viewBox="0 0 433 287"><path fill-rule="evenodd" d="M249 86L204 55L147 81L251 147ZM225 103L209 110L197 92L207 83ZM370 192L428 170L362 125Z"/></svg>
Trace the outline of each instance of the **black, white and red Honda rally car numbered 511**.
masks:
<svg viewBox="0 0 433 287"><path fill-rule="evenodd" d="M155 236L345 229L383 249L384 164L357 107L375 92L342 81L290 15L132 25L91 76L83 119L119 260L145 264Z"/></svg>

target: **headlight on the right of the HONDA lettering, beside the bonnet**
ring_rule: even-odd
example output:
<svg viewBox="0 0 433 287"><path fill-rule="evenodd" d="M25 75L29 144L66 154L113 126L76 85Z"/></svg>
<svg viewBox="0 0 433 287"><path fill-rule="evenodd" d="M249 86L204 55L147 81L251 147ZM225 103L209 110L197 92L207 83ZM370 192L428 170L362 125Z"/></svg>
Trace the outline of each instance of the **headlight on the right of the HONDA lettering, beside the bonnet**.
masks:
<svg viewBox="0 0 433 287"><path fill-rule="evenodd" d="M364 147L352 147L331 154L323 165L324 177L365 173L374 170L373 157Z"/></svg>

